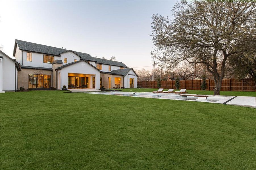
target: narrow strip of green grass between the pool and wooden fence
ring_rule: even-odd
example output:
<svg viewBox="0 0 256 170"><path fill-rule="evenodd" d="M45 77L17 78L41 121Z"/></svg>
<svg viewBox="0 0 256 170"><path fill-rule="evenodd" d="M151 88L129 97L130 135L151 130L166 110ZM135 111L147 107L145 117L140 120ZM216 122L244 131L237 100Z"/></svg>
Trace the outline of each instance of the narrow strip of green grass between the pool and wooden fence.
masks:
<svg viewBox="0 0 256 170"><path fill-rule="evenodd" d="M153 90L158 89L152 89L152 88L127 88L127 89L113 89L113 90L122 90L122 92L152 92ZM166 91L168 89L165 89ZM179 91L179 90L174 90ZM206 94L206 95L213 95L213 91L209 90L187 90L188 94ZM255 96L256 92L237 92L237 91L220 91L220 95L231 95L231 96Z"/></svg>

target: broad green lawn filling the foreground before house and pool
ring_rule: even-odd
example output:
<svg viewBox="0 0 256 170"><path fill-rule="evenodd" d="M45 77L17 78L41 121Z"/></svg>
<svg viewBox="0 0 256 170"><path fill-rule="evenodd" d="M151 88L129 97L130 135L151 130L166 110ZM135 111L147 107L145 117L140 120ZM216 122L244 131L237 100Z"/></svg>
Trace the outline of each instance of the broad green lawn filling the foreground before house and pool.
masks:
<svg viewBox="0 0 256 170"><path fill-rule="evenodd" d="M63 91L0 98L1 169L256 169L253 108Z"/></svg>

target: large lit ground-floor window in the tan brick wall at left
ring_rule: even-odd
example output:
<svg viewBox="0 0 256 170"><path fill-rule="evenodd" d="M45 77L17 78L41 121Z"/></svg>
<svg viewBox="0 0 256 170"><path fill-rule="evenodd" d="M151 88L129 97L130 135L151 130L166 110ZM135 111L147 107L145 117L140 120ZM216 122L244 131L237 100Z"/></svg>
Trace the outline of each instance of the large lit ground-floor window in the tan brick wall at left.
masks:
<svg viewBox="0 0 256 170"><path fill-rule="evenodd" d="M28 74L28 88L50 88L51 75Z"/></svg>

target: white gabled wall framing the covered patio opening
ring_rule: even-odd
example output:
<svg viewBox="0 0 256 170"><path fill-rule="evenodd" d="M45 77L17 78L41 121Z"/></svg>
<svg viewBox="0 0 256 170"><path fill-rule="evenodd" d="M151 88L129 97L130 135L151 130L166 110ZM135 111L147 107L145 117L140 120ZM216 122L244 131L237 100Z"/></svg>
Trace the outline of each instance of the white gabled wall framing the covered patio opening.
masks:
<svg viewBox="0 0 256 170"><path fill-rule="evenodd" d="M68 87L68 73L95 75L95 89L100 89L100 71L93 68L86 61L80 61L58 70L58 75L60 74L60 79L58 78L60 80L60 82L58 81L58 89L61 89L63 85Z"/></svg>

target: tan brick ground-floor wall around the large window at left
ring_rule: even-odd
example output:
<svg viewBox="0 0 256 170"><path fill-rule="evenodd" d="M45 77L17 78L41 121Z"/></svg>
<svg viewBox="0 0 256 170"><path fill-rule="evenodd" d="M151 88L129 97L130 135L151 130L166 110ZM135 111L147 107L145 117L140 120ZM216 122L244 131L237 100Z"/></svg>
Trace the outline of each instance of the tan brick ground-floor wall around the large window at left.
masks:
<svg viewBox="0 0 256 170"><path fill-rule="evenodd" d="M51 75L52 71L51 70L40 70L41 74L44 75ZM18 86L22 87L24 86L25 89L28 89L28 74L38 74L38 71L36 71L35 69L24 69L22 68L21 71L18 71ZM51 84L52 84L52 75L51 75Z"/></svg>

